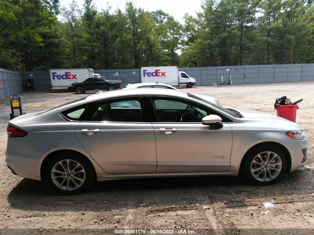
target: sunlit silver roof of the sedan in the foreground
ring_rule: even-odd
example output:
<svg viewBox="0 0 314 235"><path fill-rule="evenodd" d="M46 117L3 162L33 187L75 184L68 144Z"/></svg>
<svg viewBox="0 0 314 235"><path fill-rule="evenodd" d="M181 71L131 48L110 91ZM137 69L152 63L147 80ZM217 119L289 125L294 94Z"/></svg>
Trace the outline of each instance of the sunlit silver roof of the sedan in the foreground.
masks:
<svg viewBox="0 0 314 235"><path fill-rule="evenodd" d="M187 98L187 93L165 88L141 88L141 89L122 89L110 92L102 92L93 95L89 95L86 100L98 100L98 99L110 99L123 96L133 96L133 95L167 95L175 96L181 98Z"/></svg>

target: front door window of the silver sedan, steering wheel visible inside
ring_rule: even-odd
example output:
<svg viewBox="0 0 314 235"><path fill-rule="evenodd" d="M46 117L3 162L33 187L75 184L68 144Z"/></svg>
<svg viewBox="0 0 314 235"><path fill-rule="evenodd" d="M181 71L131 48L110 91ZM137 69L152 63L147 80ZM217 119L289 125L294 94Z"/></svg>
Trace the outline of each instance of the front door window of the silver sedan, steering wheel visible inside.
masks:
<svg viewBox="0 0 314 235"><path fill-rule="evenodd" d="M159 122L201 122L209 112L180 99L153 99Z"/></svg>

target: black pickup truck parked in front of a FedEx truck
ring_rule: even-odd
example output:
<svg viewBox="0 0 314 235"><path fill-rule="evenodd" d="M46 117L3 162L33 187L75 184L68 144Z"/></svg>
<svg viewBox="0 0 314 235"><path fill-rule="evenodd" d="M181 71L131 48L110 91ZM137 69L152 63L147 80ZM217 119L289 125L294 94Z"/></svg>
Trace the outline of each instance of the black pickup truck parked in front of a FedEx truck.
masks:
<svg viewBox="0 0 314 235"><path fill-rule="evenodd" d="M121 83L122 81L107 80L105 77L89 77L84 82L72 83L71 91L78 94L93 90L113 91L121 87Z"/></svg>

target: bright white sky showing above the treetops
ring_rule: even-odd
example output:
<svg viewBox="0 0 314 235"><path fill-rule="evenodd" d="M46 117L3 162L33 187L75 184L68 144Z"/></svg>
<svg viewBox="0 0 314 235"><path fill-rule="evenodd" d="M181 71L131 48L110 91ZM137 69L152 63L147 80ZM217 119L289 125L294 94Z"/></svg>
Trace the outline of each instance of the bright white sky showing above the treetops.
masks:
<svg viewBox="0 0 314 235"><path fill-rule="evenodd" d="M84 0L76 0L80 7L83 6ZM68 5L72 0L60 0L61 5ZM94 4L98 11L106 8L106 3L112 7L112 12L116 8L120 8L124 11L126 0L94 0ZM162 10L172 15L177 21L183 24L183 16L185 13L189 13L193 17L196 16L195 12L201 11L201 0L134 0L133 3L136 7L141 7L145 11Z"/></svg>

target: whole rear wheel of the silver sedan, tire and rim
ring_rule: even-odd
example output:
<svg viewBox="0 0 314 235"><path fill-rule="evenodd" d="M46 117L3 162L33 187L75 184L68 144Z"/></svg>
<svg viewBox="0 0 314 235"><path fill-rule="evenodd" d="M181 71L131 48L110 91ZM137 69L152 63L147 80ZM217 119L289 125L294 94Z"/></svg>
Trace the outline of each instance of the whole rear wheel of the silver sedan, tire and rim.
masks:
<svg viewBox="0 0 314 235"><path fill-rule="evenodd" d="M46 179L63 194L75 194L88 188L94 179L93 165L75 154L58 154L46 167Z"/></svg>

